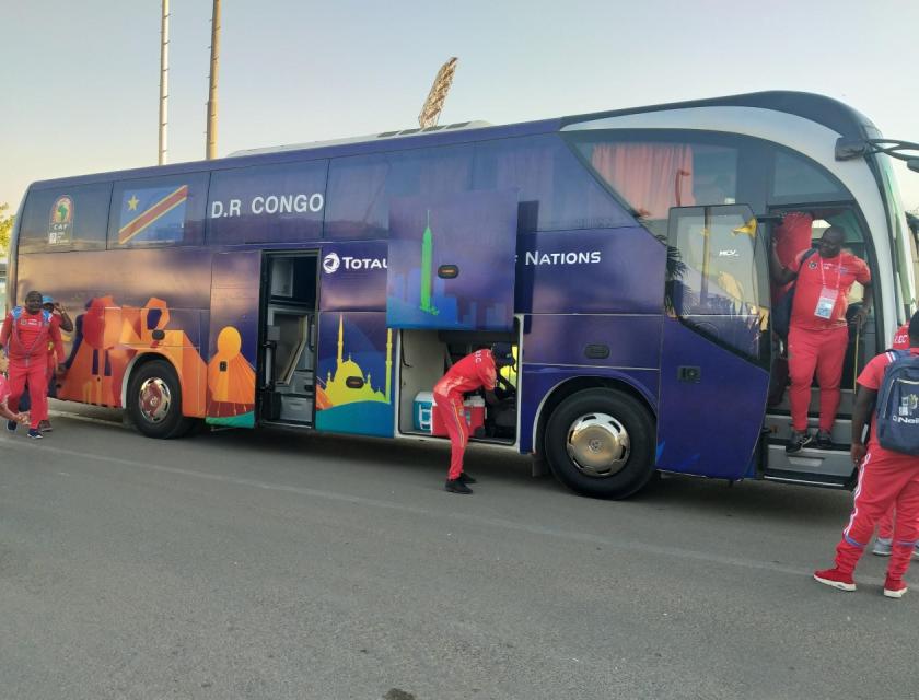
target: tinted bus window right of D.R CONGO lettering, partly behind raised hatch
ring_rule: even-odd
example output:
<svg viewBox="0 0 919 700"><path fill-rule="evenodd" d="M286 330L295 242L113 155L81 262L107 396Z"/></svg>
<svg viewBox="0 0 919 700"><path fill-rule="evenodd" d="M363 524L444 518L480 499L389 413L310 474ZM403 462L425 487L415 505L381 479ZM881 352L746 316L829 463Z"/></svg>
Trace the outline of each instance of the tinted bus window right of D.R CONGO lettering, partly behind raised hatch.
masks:
<svg viewBox="0 0 919 700"><path fill-rule="evenodd" d="M325 235L382 238L389 231L389 200L442 197L473 188L473 147L419 149L333 161Z"/></svg>

